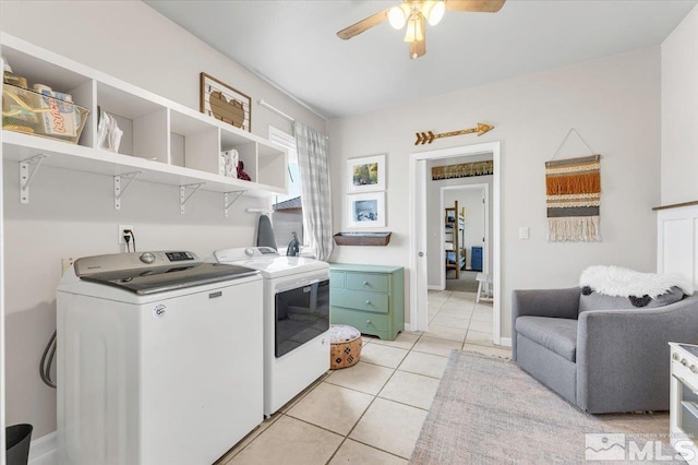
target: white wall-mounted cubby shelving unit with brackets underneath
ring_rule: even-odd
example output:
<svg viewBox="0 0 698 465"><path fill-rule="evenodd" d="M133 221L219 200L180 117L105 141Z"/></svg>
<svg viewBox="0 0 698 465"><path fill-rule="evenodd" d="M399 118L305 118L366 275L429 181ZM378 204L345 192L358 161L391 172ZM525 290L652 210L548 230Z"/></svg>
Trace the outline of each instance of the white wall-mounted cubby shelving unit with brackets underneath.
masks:
<svg viewBox="0 0 698 465"><path fill-rule="evenodd" d="M198 189L222 193L226 215L242 193L287 191L284 147L8 34L0 33L0 43L14 74L71 94L89 110L77 144L3 131L3 157L22 164L21 174L31 177L40 165L113 177L116 208L133 180L180 187L182 213ZM123 131L119 153L97 147L98 107ZM252 181L218 174L220 152L230 148ZM29 182L22 182L26 202Z"/></svg>

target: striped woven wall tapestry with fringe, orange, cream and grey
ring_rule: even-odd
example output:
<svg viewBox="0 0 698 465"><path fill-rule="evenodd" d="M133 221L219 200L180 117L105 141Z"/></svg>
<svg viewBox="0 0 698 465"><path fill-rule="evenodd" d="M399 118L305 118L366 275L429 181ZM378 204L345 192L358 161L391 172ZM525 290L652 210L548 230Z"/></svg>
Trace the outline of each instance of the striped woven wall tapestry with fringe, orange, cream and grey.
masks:
<svg viewBox="0 0 698 465"><path fill-rule="evenodd" d="M601 240L601 156L545 162L547 240Z"/></svg>

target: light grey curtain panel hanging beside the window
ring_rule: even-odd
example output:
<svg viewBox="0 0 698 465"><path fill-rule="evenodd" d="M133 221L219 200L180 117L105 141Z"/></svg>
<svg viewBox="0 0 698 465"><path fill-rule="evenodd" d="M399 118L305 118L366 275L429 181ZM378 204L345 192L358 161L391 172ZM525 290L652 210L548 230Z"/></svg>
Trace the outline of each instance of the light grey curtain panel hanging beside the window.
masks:
<svg viewBox="0 0 698 465"><path fill-rule="evenodd" d="M317 260L328 261L333 249L329 164L325 135L296 121L301 176L303 234Z"/></svg>

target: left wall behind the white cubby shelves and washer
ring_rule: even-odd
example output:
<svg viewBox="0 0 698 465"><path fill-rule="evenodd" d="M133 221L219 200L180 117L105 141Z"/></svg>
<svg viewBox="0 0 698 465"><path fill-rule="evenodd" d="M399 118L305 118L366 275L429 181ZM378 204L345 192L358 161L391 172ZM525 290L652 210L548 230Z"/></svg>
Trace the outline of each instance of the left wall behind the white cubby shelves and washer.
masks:
<svg viewBox="0 0 698 465"><path fill-rule="evenodd" d="M0 2L3 32L77 62L198 109L198 73L249 94L252 129L264 138L269 123L290 131L287 120L258 108L264 98L325 131L325 121L230 62L184 29L139 1ZM60 27L41 27L50 19ZM213 250L253 243L256 214L266 199L243 196L224 217L222 198L197 192L185 215L177 187L134 181L122 210L113 210L110 177L55 168L37 172L32 203L21 205L16 163L4 163L4 285L7 310L7 421L34 425L34 438L56 428L56 393L38 375L44 346L56 327L56 285L61 258L119 252L117 225L134 225L139 250ZM182 373L185 377L185 373Z"/></svg>

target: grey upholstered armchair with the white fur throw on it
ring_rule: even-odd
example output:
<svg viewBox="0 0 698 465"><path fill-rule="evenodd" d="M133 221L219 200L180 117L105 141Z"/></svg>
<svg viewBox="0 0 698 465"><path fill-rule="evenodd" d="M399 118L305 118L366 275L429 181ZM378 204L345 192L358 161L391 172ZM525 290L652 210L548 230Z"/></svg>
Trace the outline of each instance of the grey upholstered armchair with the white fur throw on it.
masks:
<svg viewBox="0 0 698 465"><path fill-rule="evenodd" d="M667 343L698 343L698 293L659 308L579 312L580 294L514 290L514 361L591 414L669 410Z"/></svg>

